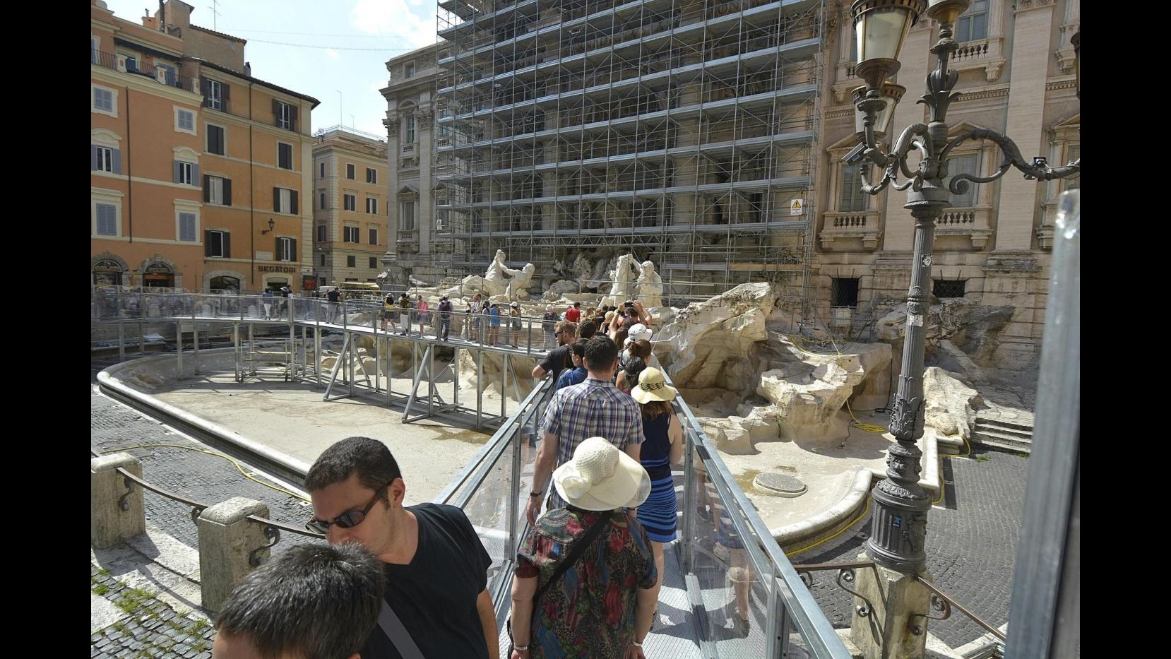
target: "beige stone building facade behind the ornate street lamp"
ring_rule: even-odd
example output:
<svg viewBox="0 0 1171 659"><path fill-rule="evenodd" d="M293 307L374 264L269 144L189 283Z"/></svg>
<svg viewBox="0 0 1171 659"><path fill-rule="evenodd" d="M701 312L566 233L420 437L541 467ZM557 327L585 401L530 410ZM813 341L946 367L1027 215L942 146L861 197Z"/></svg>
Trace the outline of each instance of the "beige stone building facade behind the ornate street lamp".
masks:
<svg viewBox="0 0 1171 659"><path fill-rule="evenodd" d="M957 23L960 41L951 67L960 92L947 112L953 136L986 128L1007 135L1029 160L1052 165L1080 158L1080 104L1074 49L1080 0L974 0ZM857 144L850 90L850 2L827 2L826 83L819 166L816 243L810 284L819 316L840 329L860 330L905 301L910 283L913 221L905 192L862 194L858 167L843 162ZM929 48L938 35L930 20L911 29L896 82L908 89L895 111L889 145L903 128L925 122L915 101L934 67ZM992 142L966 142L952 152L951 171L989 176L1002 153ZM877 172L876 172L877 176ZM973 185L953 198L938 220L932 256L933 303L965 298L1011 307L1011 320L970 357L986 368L1032 370L1040 359L1046 291L1057 195L1077 179L1038 183L1015 170Z"/></svg>

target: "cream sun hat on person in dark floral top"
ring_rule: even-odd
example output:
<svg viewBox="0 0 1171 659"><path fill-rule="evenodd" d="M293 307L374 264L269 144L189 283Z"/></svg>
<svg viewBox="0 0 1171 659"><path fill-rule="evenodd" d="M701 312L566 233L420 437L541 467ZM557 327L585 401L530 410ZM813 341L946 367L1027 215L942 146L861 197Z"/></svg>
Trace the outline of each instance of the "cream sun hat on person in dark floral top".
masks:
<svg viewBox="0 0 1171 659"><path fill-rule="evenodd" d="M554 469L553 487L582 510L637 508L651 493L651 476L617 446L591 437L577 445L571 460Z"/></svg>

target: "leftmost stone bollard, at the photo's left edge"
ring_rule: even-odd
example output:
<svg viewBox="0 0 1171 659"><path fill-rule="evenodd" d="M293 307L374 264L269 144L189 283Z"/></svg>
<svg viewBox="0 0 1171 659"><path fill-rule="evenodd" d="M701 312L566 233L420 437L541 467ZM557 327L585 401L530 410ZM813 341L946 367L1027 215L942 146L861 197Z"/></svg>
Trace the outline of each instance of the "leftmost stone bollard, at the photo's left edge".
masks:
<svg viewBox="0 0 1171 659"><path fill-rule="evenodd" d="M105 549L146 531L143 489L137 483L126 487L122 467L143 476L143 465L129 453L111 453L89 461L89 543Z"/></svg>

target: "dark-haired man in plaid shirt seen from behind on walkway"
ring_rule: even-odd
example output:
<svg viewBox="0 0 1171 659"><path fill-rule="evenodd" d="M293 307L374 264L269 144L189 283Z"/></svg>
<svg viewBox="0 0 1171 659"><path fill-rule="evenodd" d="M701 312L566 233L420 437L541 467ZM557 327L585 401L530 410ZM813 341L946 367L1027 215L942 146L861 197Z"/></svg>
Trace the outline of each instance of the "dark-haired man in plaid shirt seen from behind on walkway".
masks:
<svg viewBox="0 0 1171 659"><path fill-rule="evenodd" d="M525 510L530 524L536 523L553 469L571 460L574 449L586 439L604 437L635 460L642 453L642 410L634 398L614 386L618 348L609 337L595 336L586 343L584 362L589 373L586 382L557 391L545 410L545 441L536 451L533 489ZM555 490L549 493L549 509L564 504Z"/></svg>

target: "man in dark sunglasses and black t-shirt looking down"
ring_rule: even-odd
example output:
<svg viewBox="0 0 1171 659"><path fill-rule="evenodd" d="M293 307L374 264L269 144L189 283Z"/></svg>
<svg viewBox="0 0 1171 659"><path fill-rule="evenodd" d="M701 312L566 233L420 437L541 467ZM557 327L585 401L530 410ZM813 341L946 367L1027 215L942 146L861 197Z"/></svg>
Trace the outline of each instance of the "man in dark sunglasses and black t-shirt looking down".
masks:
<svg viewBox="0 0 1171 659"><path fill-rule="evenodd" d="M489 647L495 653L497 617L487 591L492 560L463 510L404 507L398 462L384 444L365 437L322 452L304 487L313 499L310 530L330 544L357 541L383 563L383 618L392 619L385 626L379 620L363 658L400 659L410 644L424 657L488 657Z"/></svg>

